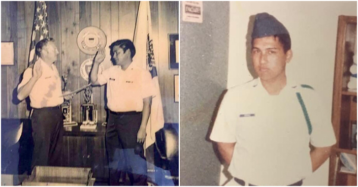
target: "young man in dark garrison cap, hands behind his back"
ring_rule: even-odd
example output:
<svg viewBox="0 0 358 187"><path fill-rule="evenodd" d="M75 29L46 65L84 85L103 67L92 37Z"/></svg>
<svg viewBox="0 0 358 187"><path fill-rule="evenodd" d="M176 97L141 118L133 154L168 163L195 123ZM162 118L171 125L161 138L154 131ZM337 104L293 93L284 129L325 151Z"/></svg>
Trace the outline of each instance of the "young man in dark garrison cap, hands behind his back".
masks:
<svg viewBox="0 0 358 187"><path fill-rule="evenodd" d="M330 114L311 86L286 77L292 50L282 23L259 13L251 38L258 78L227 91L210 139L238 184L302 185L336 143Z"/></svg>

